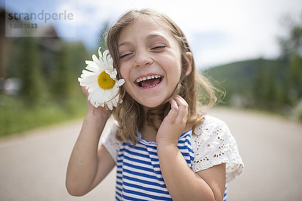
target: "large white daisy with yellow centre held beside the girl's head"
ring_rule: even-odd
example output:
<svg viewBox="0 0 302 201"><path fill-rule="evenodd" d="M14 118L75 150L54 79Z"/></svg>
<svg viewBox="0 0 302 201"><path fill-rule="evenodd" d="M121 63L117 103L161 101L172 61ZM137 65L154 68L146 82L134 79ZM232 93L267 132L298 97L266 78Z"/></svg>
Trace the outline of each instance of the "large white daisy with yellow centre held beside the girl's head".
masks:
<svg viewBox="0 0 302 201"><path fill-rule="evenodd" d="M112 110L119 100L119 87L124 84L124 79L117 80L117 71L113 68L113 59L108 50L103 54L99 48L99 58L92 55L93 61L86 60L86 69L78 78L80 85L88 89L89 102L95 107L105 107Z"/></svg>

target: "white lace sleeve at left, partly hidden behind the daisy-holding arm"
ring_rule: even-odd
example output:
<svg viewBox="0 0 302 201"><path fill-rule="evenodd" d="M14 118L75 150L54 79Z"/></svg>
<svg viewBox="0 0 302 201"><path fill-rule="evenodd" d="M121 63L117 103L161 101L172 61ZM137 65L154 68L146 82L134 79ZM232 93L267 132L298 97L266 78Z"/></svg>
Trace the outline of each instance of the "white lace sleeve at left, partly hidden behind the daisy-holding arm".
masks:
<svg viewBox="0 0 302 201"><path fill-rule="evenodd" d="M100 138L101 144L104 145L104 147L110 153L115 163L117 159L117 153L122 144L122 142L116 138L116 131L117 131L116 124L117 122L112 118L108 119Z"/></svg>

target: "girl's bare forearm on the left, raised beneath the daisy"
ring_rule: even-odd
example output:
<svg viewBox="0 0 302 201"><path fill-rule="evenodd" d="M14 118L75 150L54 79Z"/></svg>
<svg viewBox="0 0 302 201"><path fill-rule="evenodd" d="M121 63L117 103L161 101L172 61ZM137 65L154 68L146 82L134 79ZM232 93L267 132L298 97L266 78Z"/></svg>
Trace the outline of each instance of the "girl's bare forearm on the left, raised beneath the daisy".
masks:
<svg viewBox="0 0 302 201"><path fill-rule="evenodd" d="M66 187L71 194L90 190L98 169L98 144L108 117L88 113L75 143L66 173Z"/></svg>

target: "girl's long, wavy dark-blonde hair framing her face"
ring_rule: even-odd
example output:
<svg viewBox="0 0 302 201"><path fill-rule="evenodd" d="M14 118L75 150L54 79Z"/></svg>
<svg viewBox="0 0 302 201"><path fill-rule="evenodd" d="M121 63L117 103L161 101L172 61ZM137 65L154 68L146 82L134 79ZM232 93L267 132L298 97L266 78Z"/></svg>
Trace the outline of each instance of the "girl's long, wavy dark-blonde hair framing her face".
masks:
<svg viewBox="0 0 302 201"><path fill-rule="evenodd" d="M140 17L147 17L155 20L171 31L172 35L178 41L181 49L182 73L179 83L177 84L171 97L168 98L162 105L150 109L147 112L146 117L143 116L144 114L142 112L142 106L127 93L124 85L122 85L120 87L120 98L123 99L123 103L118 104L116 109L113 111L113 116L117 120L117 126L119 128L117 137L125 142L135 144L137 142L135 132L137 132L139 129L142 129L143 120L146 120L150 126L152 126L155 130L158 130L155 125L155 121L157 119L163 121L170 110L168 100L177 94L182 96L189 105L187 124L193 123L192 130L194 133L194 128L200 125L204 119L204 113L201 112L201 110L198 111L196 82L200 83L200 89L204 91L201 99L202 104L205 106L203 109L210 108L216 103L217 97L215 95L215 91L218 90L212 84L210 84L210 82L204 76L196 72L194 59L192 60L191 72L186 76L186 72L189 67L189 61L186 53L191 52L191 50L184 33L168 16L150 9L143 9L140 11L132 10L120 17L119 20L109 29L107 34L107 46L113 58L113 65L118 71L118 78L121 78L119 77L120 58L118 54L118 38L123 28L130 25Z"/></svg>

